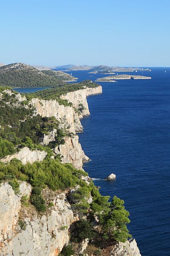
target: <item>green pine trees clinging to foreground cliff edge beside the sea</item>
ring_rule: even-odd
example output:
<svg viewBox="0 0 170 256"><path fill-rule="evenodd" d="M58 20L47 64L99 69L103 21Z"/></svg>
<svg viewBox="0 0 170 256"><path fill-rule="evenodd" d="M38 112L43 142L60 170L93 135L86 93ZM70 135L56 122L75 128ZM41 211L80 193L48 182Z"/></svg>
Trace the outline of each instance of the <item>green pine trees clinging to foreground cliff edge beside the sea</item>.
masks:
<svg viewBox="0 0 170 256"><path fill-rule="evenodd" d="M87 185L85 182L81 181L80 184L81 187L72 195L74 207L86 213L89 220L91 220L91 218L93 219L94 216L99 218L101 232L98 235L101 239L104 239L104 241L116 240L125 242L127 238L131 238L126 227L126 225L130 223L130 220L128 218L129 212L125 210L123 206L124 201L114 196L112 202L109 202L110 197L100 195L99 190L94 186L93 182ZM90 195L93 196L93 202L88 204L87 200ZM81 232L86 232L86 228L83 229L83 227L81 227ZM75 235L73 234L73 240L74 238Z"/></svg>

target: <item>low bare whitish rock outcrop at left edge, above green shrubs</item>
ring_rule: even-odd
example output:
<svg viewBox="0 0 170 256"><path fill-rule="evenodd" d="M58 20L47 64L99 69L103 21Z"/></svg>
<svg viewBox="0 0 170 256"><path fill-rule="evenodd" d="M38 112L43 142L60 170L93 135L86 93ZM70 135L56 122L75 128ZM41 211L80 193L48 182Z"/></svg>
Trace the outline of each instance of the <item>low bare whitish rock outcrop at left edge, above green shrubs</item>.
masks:
<svg viewBox="0 0 170 256"><path fill-rule="evenodd" d="M13 155L8 155L7 157L1 159L2 162L7 163L11 161L13 158L17 158L21 160L23 164L26 163L34 163L35 161L42 161L47 153L42 150L30 150L27 147L22 148L19 152Z"/></svg>

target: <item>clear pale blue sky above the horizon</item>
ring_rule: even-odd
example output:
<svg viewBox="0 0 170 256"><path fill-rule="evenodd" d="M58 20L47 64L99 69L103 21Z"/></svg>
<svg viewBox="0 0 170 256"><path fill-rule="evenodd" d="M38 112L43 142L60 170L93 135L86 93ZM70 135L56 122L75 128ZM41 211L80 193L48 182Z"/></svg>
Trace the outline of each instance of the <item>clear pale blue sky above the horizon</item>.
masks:
<svg viewBox="0 0 170 256"><path fill-rule="evenodd" d="M0 62L170 66L169 0L6 0Z"/></svg>

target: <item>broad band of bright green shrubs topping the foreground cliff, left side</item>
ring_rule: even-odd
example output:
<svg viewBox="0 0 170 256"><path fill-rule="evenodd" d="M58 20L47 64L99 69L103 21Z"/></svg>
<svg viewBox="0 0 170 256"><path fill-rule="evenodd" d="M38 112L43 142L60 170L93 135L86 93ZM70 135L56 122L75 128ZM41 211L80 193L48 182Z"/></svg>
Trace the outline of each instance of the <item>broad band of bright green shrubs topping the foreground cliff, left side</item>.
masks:
<svg viewBox="0 0 170 256"><path fill-rule="evenodd" d="M79 183L81 170L70 168L57 159L47 158L42 162L22 164L19 160L0 162L0 180L18 179L29 181L33 186L48 186L52 190L66 189ZM36 194L35 195L40 195Z"/></svg>

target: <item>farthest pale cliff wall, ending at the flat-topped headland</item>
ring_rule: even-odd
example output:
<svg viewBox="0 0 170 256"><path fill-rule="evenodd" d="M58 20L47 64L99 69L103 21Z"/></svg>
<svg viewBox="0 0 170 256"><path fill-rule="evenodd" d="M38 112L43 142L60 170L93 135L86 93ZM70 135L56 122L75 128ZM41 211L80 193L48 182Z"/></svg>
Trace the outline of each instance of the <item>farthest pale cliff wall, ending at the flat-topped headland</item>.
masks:
<svg viewBox="0 0 170 256"><path fill-rule="evenodd" d="M72 102L75 108L78 108L80 103L85 107L80 116L74 111L74 108L59 105L56 100L32 99L30 103L36 108L36 114L48 117L55 116L61 122L62 128L66 128L66 130L75 134L76 132L82 132L80 118L90 114L86 97L97 93L102 93L101 86L85 88L61 96L62 99Z"/></svg>

